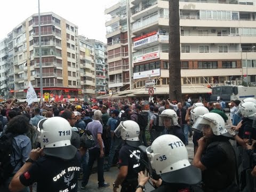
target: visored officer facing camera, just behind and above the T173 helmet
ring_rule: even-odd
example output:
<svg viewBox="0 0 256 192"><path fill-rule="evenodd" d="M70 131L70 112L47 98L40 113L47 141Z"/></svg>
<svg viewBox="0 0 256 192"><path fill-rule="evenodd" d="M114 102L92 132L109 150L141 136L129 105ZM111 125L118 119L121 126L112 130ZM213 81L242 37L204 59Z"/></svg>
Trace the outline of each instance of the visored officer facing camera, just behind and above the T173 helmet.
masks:
<svg viewBox="0 0 256 192"><path fill-rule="evenodd" d="M165 109L159 115L159 126L164 126L162 134L173 134L185 143L185 135L178 124L177 113L173 109Z"/></svg>

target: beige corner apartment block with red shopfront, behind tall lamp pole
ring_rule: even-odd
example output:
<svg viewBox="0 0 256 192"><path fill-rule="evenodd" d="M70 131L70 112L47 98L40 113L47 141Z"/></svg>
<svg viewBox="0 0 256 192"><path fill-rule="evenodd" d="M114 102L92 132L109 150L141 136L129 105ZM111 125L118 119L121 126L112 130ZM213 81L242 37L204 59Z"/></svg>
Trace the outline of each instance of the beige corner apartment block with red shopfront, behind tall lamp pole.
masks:
<svg viewBox="0 0 256 192"><path fill-rule="evenodd" d="M26 98L29 81L39 97L38 29L38 14L33 14L4 39L7 58L1 58L1 66L6 61L6 86L16 98ZM78 27L53 12L41 13L41 39L43 92L95 97L94 46L79 38Z"/></svg>

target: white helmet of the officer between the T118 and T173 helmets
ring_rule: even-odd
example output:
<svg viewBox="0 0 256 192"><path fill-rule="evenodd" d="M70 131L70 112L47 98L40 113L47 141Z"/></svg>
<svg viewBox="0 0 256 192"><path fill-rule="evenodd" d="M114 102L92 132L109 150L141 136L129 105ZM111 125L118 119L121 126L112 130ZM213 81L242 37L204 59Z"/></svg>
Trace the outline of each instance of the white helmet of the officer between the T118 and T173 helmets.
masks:
<svg viewBox="0 0 256 192"><path fill-rule="evenodd" d="M118 138L121 137L130 146L138 147L141 144L139 140L140 126L134 121L120 122L114 132Z"/></svg>

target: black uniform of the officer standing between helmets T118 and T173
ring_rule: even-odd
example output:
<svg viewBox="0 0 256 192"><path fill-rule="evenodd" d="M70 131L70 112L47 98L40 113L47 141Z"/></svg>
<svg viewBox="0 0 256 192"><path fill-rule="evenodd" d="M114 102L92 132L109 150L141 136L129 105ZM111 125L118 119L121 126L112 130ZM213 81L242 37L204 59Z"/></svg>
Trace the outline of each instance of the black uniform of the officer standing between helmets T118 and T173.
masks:
<svg viewBox="0 0 256 192"><path fill-rule="evenodd" d="M138 148L129 146L127 143L124 143L119 151L119 166L128 166L128 173L121 184L121 192L135 191L138 186L138 173L145 169L140 159L137 159L132 153L141 159L144 158L143 153Z"/></svg>

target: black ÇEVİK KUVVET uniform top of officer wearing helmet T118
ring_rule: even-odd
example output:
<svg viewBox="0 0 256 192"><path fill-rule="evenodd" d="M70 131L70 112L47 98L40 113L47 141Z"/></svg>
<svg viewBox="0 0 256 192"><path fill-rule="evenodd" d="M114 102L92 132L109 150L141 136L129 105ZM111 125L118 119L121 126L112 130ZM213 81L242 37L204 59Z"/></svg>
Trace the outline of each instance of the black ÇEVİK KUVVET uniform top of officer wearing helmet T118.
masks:
<svg viewBox="0 0 256 192"><path fill-rule="evenodd" d="M37 182L37 192L76 192L80 169L79 154L66 161L57 157L44 156L33 163L28 171L20 175L20 182L24 186Z"/></svg>

